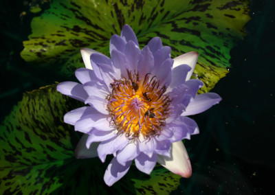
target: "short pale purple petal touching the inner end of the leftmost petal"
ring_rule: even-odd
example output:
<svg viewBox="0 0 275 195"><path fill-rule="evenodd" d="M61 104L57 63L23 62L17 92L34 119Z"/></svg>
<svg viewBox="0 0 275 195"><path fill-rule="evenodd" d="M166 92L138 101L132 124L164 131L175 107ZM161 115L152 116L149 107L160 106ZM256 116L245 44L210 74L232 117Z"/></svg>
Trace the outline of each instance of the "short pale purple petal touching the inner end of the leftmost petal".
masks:
<svg viewBox="0 0 275 195"><path fill-rule="evenodd" d="M84 89L88 93L89 96L96 96L101 99L107 98L107 95L109 95L109 89L104 84L101 84L100 82L96 80L91 80L89 82L86 82L84 84Z"/></svg>

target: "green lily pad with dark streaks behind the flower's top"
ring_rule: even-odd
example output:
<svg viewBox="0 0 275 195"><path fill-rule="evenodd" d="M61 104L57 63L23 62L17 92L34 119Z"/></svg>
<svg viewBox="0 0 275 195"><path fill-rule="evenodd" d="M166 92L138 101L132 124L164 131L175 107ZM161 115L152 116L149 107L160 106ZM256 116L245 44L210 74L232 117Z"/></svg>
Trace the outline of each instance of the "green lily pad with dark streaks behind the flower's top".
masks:
<svg viewBox="0 0 275 195"><path fill-rule="evenodd" d="M53 1L32 21L21 56L34 66L72 78L83 67L80 47L109 56L109 38L129 24L143 47L154 37L172 48L172 56L198 51L193 77L209 91L228 73L230 49L245 36L248 0L242 1Z"/></svg>

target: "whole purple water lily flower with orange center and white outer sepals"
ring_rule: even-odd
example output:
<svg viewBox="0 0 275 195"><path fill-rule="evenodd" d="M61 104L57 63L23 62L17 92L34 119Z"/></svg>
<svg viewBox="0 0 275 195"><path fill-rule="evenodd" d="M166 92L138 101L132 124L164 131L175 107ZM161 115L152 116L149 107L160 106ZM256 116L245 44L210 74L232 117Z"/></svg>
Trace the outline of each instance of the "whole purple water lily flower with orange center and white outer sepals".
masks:
<svg viewBox="0 0 275 195"><path fill-rule="evenodd" d="M150 174L156 163L189 177L190 160L182 139L199 133L187 115L219 103L216 93L197 91L203 82L191 79L199 54L191 51L170 58L170 47L152 38L142 50L135 33L124 25L110 41L111 58L81 49L86 68L76 70L81 82L61 82L57 90L88 104L66 113L64 121L85 133L76 157L113 154L104 174L111 186L128 172L135 160L138 170Z"/></svg>

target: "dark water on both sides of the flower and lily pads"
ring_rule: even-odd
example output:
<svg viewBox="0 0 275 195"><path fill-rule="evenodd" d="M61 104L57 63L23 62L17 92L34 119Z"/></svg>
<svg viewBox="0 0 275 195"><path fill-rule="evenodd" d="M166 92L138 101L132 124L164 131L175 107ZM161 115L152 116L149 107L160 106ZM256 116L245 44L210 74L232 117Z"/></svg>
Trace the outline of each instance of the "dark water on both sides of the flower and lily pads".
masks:
<svg viewBox="0 0 275 195"><path fill-rule="evenodd" d="M1 122L24 91L55 81L19 56L34 16L20 16L27 8L1 1ZM172 194L275 194L275 1L252 1L250 10L248 36L232 49L232 69L212 90L223 100L195 116L201 133L186 141L192 179L181 179Z"/></svg>

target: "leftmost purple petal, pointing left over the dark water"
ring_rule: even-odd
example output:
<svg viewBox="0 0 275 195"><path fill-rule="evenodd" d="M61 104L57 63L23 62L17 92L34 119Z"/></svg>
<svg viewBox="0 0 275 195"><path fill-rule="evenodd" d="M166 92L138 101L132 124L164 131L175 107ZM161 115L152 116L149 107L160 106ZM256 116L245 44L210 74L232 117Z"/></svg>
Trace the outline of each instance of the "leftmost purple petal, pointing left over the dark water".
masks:
<svg viewBox="0 0 275 195"><path fill-rule="evenodd" d="M57 85L56 90L71 98L84 102L88 98L88 94L83 89L83 85L77 82L61 82Z"/></svg>

